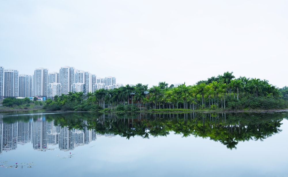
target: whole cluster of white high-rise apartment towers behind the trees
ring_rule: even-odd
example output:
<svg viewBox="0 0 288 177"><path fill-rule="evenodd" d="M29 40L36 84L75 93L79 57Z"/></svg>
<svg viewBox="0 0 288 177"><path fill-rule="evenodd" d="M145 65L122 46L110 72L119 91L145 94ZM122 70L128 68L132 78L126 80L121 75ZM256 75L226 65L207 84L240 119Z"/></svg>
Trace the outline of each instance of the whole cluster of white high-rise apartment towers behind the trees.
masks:
<svg viewBox="0 0 288 177"><path fill-rule="evenodd" d="M83 92L84 95L99 89L122 87L116 77L97 77L88 71L73 66L62 66L59 72L49 72L48 68L35 68L33 75L20 74L16 69L0 66L0 97L46 97ZM42 99L41 99L42 100ZM45 100L45 99L44 99Z"/></svg>

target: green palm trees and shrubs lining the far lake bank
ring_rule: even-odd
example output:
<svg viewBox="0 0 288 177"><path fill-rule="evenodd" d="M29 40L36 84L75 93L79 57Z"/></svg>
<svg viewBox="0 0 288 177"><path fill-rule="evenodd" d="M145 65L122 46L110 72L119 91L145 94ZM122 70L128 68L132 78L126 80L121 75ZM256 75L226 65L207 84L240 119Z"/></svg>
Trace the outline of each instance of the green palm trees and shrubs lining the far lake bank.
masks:
<svg viewBox="0 0 288 177"><path fill-rule="evenodd" d="M283 109L287 108L288 88L278 89L267 80L239 77L226 72L194 85L159 82L148 88L138 83L112 90L100 89L84 95L70 92L47 100L47 110L140 111L142 109Z"/></svg>

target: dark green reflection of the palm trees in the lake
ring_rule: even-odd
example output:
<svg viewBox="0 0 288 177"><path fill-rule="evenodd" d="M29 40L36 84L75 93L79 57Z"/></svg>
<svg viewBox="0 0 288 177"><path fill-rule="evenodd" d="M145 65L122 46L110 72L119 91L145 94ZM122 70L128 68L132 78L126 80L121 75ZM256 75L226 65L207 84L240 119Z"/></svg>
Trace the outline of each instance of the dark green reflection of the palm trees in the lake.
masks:
<svg viewBox="0 0 288 177"><path fill-rule="evenodd" d="M37 116L37 119L39 117ZM238 142L264 139L281 132L282 113L181 113L181 114L99 114L63 113L45 115L46 121L77 130L94 130L99 134L114 134L130 139L134 136L195 136L221 142L236 149ZM23 117L28 121L28 117ZM34 118L33 118L34 119ZM3 119L11 123L13 119Z"/></svg>

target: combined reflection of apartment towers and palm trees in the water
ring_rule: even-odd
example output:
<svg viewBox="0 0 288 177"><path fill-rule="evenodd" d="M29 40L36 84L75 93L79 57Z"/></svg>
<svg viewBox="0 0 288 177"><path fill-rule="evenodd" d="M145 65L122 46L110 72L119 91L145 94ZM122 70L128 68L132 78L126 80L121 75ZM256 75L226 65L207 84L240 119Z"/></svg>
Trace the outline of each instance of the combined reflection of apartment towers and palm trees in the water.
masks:
<svg viewBox="0 0 288 177"><path fill-rule="evenodd" d="M186 113L186 114L98 114L62 113L4 116L0 119L1 150L11 151L17 144L32 143L33 149L46 151L58 144L63 151L89 144L98 136L120 135L210 138L236 149L240 141L264 140L281 132L287 114L282 113Z"/></svg>

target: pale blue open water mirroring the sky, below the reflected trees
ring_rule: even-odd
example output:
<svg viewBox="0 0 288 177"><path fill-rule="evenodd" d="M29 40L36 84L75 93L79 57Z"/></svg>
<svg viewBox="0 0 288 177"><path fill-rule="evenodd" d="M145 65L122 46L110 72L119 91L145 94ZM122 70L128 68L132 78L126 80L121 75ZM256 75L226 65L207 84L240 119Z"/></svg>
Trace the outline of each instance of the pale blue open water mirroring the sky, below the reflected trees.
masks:
<svg viewBox="0 0 288 177"><path fill-rule="evenodd" d="M130 140L100 136L73 151L48 145L45 152L31 143L0 155L18 168L0 168L1 176L286 176L288 121L283 131L264 141L239 142L227 149L220 142L170 132L167 137L135 136ZM69 158L70 152L72 157ZM13 160L11 160L13 159ZM35 164L21 168L21 163Z"/></svg>

